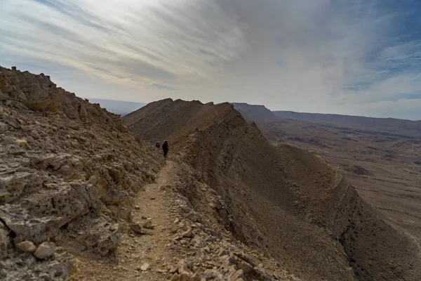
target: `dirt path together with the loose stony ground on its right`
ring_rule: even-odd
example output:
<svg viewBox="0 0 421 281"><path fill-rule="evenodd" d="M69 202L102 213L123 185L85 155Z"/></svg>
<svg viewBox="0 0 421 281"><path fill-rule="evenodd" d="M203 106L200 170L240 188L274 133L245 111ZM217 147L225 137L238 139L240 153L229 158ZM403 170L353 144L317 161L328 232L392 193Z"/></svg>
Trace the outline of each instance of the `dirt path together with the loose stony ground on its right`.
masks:
<svg viewBox="0 0 421 281"><path fill-rule="evenodd" d="M155 183L135 197L115 256L76 257L70 280L299 280L228 233L197 222L175 191L179 169L177 161L166 161Z"/></svg>

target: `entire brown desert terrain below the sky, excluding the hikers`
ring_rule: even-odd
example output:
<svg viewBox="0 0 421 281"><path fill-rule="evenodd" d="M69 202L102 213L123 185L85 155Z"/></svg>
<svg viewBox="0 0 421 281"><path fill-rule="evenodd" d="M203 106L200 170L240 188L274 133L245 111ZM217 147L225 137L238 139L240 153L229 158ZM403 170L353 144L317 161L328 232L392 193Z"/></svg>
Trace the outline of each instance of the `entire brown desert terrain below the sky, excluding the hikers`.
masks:
<svg viewBox="0 0 421 281"><path fill-rule="evenodd" d="M415 132L171 98L121 118L15 67L0 100L2 280L420 280Z"/></svg>

